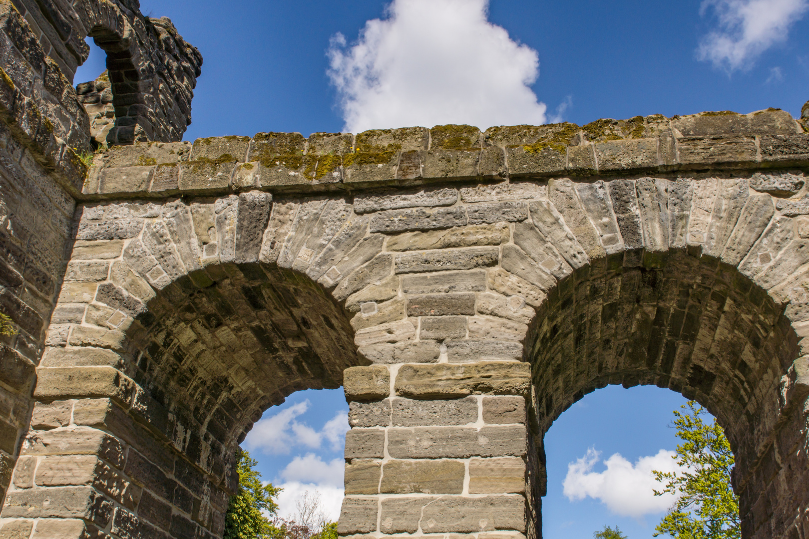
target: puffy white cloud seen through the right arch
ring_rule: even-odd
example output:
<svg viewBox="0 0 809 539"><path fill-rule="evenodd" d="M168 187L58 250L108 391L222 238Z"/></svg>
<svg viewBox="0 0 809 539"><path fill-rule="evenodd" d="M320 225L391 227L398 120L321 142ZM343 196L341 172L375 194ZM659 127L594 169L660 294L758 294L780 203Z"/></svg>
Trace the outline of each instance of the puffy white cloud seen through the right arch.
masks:
<svg viewBox="0 0 809 539"><path fill-rule="evenodd" d="M673 451L660 449L653 457L641 457L633 465L620 453L604 461L607 470L594 472L593 466L601 453L594 448L567 465L563 493L570 501L587 497L601 500L611 512L619 516L640 518L666 511L676 501L674 495L655 496L653 489L663 490L663 485L654 480L652 470L669 472L679 466L671 457Z"/></svg>

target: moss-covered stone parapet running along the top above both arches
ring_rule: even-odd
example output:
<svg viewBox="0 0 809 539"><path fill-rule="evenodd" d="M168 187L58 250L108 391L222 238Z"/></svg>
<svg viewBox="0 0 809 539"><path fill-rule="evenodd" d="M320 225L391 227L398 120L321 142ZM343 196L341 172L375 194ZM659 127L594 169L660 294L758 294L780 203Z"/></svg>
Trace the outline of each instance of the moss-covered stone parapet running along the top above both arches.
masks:
<svg viewBox="0 0 809 539"><path fill-rule="evenodd" d="M354 191L441 182L561 176L671 175L809 167L803 116L635 116L590 124L470 125L351 133L257 133L141 143L95 154L87 200L122 196Z"/></svg>

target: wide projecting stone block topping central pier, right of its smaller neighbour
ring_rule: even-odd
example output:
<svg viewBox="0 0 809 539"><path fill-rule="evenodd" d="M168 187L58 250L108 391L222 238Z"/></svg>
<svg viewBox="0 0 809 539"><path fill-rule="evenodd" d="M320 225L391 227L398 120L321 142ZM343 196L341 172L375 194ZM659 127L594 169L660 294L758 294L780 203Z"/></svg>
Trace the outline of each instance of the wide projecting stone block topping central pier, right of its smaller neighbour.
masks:
<svg viewBox="0 0 809 539"><path fill-rule="evenodd" d="M517 362L404 365L396 375L400 397L456 398L469 394L525 395L531 365Z"/></svg>

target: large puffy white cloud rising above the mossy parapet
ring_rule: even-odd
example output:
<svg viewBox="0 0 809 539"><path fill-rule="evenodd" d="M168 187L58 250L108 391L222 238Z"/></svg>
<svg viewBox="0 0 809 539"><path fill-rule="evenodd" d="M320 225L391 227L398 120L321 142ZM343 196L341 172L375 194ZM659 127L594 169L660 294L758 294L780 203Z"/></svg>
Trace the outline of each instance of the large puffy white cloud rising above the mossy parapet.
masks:
<svg viewBox="0 0 809 539"><path fill-rule="evenodd" d="M535 50L489 23L489 0L393 0L356 44L328 50L345 130L543 124Z"/></svg>

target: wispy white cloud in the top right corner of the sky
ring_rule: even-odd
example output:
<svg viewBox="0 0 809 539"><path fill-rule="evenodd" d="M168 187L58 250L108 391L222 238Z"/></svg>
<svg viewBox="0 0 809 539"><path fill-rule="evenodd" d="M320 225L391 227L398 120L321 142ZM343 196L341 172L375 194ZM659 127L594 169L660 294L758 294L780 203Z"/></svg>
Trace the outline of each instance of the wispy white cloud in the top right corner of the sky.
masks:
<svg viewBox="0 0 809 539"><path fill-rule="evenodd" d="M709 7L719 29L705 36L697 57L733 71L748 69L765 50L786 41L792 23L809 9L809 0L703 0L701 13Z"/></svg>

